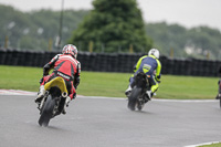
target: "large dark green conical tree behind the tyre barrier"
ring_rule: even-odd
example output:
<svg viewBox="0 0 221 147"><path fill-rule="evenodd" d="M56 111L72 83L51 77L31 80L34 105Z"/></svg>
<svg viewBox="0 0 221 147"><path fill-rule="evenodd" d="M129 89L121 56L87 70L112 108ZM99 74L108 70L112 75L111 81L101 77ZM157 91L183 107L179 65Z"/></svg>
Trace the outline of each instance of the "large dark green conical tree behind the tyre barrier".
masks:
<svg viewBox="0 0 221 147"><path fill-rule="evenodd" d="M92 42L95 52L148 52L152 41L145 33L145 23L136 0L94 0L94 10L74 31L70 43L87 50Z"/></svg>

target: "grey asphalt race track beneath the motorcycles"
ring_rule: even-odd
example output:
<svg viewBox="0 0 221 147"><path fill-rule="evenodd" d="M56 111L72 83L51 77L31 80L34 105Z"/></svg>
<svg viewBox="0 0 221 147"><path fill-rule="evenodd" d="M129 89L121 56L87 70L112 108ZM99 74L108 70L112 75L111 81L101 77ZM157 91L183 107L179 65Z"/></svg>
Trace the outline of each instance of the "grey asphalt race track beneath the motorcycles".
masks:
<svg viewBox="0 0 221 147"><path fill-rule="evenodd" d="M149 102L131 112L126 99L77 97L66 115L38 125L34 96L0 95L0 147L185 147L221 140L218 101Z"/></svg>

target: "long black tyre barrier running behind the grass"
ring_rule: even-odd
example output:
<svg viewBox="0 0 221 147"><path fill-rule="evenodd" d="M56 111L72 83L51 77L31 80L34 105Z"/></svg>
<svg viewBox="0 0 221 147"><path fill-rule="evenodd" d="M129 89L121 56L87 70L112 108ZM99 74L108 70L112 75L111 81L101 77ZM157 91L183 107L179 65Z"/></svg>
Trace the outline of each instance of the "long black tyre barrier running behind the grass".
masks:
<svg viewBox="0 0 221 147"><path fill-rule="evenodd" d="M0 49L0 65L42 67L57 53L61 52ZM143 55L145 54L80 52L77 60L83 71L131 73L134 65ZM221 65L221 61L167 56L160 56L160 62L162 74L170 75L219 76L218 71Z"/></svg>

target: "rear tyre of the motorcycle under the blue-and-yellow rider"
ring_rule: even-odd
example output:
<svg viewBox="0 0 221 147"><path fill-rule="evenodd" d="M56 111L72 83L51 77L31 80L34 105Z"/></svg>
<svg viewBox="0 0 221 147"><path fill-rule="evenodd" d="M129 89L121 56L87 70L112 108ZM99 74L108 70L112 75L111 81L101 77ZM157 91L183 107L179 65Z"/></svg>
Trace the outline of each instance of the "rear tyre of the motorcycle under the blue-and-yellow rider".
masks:
<svg viewBox="0 0 221 147"><path fill-rule="evenodd" d="M140 92L141 92L141 88L140 87L134 87L131 90L131 94L128 98L128 105L127 107L130 109L130 111L135 111L135 107L136 107L136 104L137 104L137 98L138 96L140 95Z"/></svg>

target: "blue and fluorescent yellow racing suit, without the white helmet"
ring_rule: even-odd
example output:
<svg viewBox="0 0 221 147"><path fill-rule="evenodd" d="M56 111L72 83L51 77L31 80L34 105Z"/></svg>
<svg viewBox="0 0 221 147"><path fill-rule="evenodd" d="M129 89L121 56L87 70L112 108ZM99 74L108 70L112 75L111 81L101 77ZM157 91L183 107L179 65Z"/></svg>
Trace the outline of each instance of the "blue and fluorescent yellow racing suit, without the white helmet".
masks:
<svg viewBox="0 0 221 147"><path fill-rule="evenodd" d="M160 83L161 76L161 63L157 57L155 57L154 55L141 56L138 60L134 72L134 75L136 75L139 72L144 72L147 75L151 85L151 94L158 90L158 83ZM130 85L134 82L134 75L129 80Z"/></svg>

